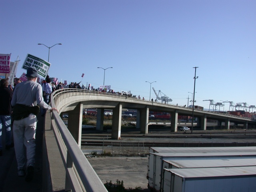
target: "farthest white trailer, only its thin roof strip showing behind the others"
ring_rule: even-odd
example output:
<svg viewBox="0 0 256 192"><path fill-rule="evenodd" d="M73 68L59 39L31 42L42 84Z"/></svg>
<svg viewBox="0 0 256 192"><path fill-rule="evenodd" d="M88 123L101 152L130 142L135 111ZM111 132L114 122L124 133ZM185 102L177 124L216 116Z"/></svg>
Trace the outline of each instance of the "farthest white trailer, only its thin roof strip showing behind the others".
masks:
<svg viewBox="0 0 256 192"><path fill-rule="evenodd" d="M256 147L150 147L150 153L256 152Z"/></svg>

